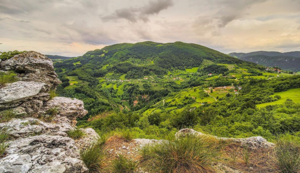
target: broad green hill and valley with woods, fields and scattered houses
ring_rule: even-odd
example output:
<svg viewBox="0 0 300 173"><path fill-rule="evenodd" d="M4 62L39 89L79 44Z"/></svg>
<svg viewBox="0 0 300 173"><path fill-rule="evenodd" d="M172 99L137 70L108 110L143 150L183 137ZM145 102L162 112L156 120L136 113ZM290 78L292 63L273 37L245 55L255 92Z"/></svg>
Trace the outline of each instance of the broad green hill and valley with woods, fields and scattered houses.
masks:
<svg viewBox="0 0 300 173"><path fill-rule="evenodd" d="M271 140L285 128L259 120L264 112L273 116L292 105L286 117L300 113L298 100L287 99L300 88L300 75L266 70L201 45L122 43L54 66L62 82L57 93L83 100L89 111L79 126L102 132L131 128L138 137L160 139L190 127ZM282 121L278 117L274 122Z"/></svg>

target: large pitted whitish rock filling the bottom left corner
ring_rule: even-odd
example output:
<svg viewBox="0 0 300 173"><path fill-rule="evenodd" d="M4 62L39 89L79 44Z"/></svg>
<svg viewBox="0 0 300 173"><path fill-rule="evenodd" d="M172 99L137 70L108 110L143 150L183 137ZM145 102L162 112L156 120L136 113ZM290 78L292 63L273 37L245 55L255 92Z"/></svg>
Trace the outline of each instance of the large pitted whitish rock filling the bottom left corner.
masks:
<svg viewBox="0 0 300 173"><path fill-rule="evenodd" d="M69 137L39 135L10 142L0 173L87 173Z"/></svg>

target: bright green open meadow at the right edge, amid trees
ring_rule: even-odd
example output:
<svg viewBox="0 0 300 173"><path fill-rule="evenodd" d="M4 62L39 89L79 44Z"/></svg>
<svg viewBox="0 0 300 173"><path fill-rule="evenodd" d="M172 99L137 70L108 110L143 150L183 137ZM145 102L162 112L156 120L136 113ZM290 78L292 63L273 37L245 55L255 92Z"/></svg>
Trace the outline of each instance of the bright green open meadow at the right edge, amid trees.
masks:
<svg viewBox="0 0 300 173"><path fill-rule="evenodd" d="M257 104L256 106L257 107L265 107L268 105L282 104L285 102L285 100L287 98L292 99L295 103L300 103L300 88L289 89L289 90L283 91L283 92L277 92L274 95L271 95L271 97L274 97L275 95L280 95L281 98L277 101Z"/></svg>

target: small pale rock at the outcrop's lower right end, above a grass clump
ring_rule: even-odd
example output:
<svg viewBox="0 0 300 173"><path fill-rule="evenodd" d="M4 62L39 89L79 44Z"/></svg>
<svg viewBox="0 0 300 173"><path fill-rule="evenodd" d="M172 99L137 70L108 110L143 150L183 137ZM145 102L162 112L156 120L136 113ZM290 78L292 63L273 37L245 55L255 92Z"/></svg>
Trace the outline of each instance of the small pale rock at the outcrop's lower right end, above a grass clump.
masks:
<svg viewBox="0 0 300 173"><path fill-rule="evenodd" d="M86 148L99 138L98 133L92 128L80 128L85 133L85 136L76 140L78 148Z"/></svg>

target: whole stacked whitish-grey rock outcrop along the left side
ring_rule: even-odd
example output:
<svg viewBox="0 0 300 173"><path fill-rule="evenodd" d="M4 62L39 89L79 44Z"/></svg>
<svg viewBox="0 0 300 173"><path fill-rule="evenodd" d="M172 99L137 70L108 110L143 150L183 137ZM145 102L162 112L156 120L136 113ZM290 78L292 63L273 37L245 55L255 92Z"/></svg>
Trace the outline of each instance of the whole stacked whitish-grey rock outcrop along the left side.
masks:
<svg viewBox="0 0 300 173"><path fill-rule="evenodd" d="M60 83L52 61L29 51L0 61L1 70L13 70L18 82L0 88L0 110L12 109L19 119L0 123L9 135L8 148L0 158L0 173L88 173L79 149L98 139L91 128L74 141L67 132L76 129L76 118L85 116L83 102L54 97L48 92ZM40 118L40 119L37 119Z"/></svg>

